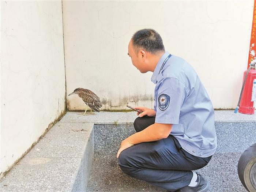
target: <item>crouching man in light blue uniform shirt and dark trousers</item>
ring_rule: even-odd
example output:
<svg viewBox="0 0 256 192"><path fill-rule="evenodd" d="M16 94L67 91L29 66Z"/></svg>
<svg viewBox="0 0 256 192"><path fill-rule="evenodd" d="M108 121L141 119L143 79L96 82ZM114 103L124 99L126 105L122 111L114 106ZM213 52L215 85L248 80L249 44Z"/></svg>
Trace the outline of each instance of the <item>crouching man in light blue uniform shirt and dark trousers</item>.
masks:
<svg viewBox="0 0 256 192"><path fill-rule="evenodd" d="M207 165L217 148L214 110L194 69L165 51L153 29L137 31L128 45L132 64L153 72L154 109L134 121L136 133L121 143L118 163L124 173L167 191L205 192L209 182L192 170Z"/></svg>

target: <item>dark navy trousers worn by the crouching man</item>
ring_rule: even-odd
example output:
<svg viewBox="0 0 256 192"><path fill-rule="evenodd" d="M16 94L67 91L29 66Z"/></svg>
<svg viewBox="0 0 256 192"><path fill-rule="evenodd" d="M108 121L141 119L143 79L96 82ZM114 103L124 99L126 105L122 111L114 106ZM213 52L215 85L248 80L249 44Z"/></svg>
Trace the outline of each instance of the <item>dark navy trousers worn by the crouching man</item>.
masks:
<svg viewBox="0 0 256 192"><path fill-rule="evenodd" d="M155 117L138 117L136 132L155 123ZM196 157L180 146L174 136L153 142L143 142L122 151L119 166L124 173L167 191L176 191L189 185L193 173L207 165L210 157Z"/></svg>

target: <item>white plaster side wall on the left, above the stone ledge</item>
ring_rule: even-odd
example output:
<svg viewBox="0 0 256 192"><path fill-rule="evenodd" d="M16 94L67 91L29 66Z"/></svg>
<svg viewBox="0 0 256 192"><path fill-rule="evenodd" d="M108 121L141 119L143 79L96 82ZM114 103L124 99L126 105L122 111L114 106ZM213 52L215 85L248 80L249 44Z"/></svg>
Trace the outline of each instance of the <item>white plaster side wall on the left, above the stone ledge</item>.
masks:
<svg viewBox="0 0 256 192"><path fill-rule="evenodd" d="M1 176L65 107L61 1L1 1Z"/></svg>

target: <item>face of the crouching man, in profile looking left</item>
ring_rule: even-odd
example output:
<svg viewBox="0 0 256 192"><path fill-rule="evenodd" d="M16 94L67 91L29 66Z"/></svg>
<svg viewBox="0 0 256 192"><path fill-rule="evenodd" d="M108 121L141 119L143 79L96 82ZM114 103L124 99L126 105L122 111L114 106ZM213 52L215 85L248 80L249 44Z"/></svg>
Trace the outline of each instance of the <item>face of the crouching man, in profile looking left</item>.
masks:
<svg viewBox="0 0 256 192"><path fill-rule="evenodd" d="M146 69L146 63L143 61L143 57L140 53L135 53L133 49L132 40L128 45L128 55L132 59L132 64L141 72L146 73L148 70Z"/></svg>

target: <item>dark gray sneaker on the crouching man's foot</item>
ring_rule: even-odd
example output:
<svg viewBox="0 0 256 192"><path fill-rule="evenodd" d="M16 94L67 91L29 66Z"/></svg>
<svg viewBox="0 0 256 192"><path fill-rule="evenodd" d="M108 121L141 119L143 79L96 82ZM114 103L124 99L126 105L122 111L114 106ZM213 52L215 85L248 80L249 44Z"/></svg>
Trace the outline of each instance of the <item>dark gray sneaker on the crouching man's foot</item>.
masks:
<svg viewBox="0 0 256 192"><path fill-rule="evenodd" d="M176 192L206 192L208 191L210 187L209 181L204 179L200 174L198 175L198 183L195 187L182 187L181 189L178 189Z"/></svg>

